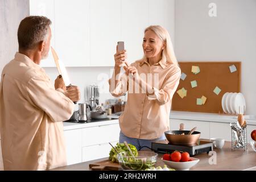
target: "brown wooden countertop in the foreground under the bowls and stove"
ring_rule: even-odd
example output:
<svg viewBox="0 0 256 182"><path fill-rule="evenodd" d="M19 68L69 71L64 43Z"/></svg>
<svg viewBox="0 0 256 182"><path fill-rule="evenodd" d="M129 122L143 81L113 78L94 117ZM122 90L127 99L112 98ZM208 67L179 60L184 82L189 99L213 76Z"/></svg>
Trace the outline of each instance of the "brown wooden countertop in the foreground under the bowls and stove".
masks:
<svg viewBox="0 0 256 182"><path fill-rule="evenodd" d="M207 153L194 156L200 159L200 162L196 166L192 167L191 171L241 171L241 170L253 170L256 171L256 152L253 151L250 144L248 144L248 150L231 150L231 142L225 142L225 145L221 149L214 149L217 153L217 164L209 164L209 158L211 157ZM158 162L156 166L163 167L164 163L162 155L159 154ZM73 164L70 166L59 167L52 169L53 171L88 171L89 164L106 160L108 158L92 160L84 163Z"/></svg>

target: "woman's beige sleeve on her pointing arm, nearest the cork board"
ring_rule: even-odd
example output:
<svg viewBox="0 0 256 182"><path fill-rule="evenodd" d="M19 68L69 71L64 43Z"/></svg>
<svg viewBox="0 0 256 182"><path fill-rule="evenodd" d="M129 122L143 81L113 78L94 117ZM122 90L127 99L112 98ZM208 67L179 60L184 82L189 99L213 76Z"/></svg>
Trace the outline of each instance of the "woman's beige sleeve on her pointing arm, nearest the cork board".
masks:
<svg viewBox="0 0 256 182"><path fill-rule="evenodd" d="M153 87L154 94L149 95L148 100L156 100L159 105L164 105L169 102L179 85L180 75L180 68L177 68L177 70L163 83L162 89L158 90Z"/></svg>

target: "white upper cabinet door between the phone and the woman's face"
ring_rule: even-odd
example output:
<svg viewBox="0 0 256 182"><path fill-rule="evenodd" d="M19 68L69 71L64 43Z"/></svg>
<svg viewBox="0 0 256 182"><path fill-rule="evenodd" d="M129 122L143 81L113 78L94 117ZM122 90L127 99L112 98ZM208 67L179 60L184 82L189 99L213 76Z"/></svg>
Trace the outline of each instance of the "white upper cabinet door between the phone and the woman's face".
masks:
<svg viewBox="0 0 256 182"><path fill-rule="evenodd" d="M148 0L122 0L122 40L127 61L133 63L143 57L144 29L149 26Z"/></svg>

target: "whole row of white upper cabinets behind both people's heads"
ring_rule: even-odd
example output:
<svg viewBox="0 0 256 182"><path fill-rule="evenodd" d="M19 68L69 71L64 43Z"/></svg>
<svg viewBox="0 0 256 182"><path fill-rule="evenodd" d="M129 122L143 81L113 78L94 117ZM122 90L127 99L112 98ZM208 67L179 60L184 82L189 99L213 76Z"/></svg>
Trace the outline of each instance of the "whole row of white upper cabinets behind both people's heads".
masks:
<svg viewBox="0 0 256 182"><path fill-rule="evenodd" d="M30 0L30 14L52 20L51 46L66 67L113 67L118 41L125 42L129 63L141 59L151 24L174 39L174 0ZM55 67L51 52L41 65Z"/></svg>

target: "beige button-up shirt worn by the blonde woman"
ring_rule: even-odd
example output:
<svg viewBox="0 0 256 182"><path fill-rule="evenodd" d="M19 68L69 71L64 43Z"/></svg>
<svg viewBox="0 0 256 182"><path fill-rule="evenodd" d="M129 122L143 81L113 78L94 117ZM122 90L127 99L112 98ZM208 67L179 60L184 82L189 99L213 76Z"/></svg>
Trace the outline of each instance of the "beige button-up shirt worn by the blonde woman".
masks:
<svg viewBox="0 0 256 182"><path fill-rule="evenodd" d="M110 93L119 97L128 90L125 111L119 117L120 129L131 138L159 138L164 131L170 129L171 102L179 85L180 68L178 65L168 64L165 59L154 65L150 65L147 60L135 61L131 65L137 68L142 80L152 85L154 95L147 96L142 89L139 89L139 93L136 92L136 82L131 82L132 79L126 75L122 75L118 84L113 86L116 79L113 74L110 80Z"/></svg>

